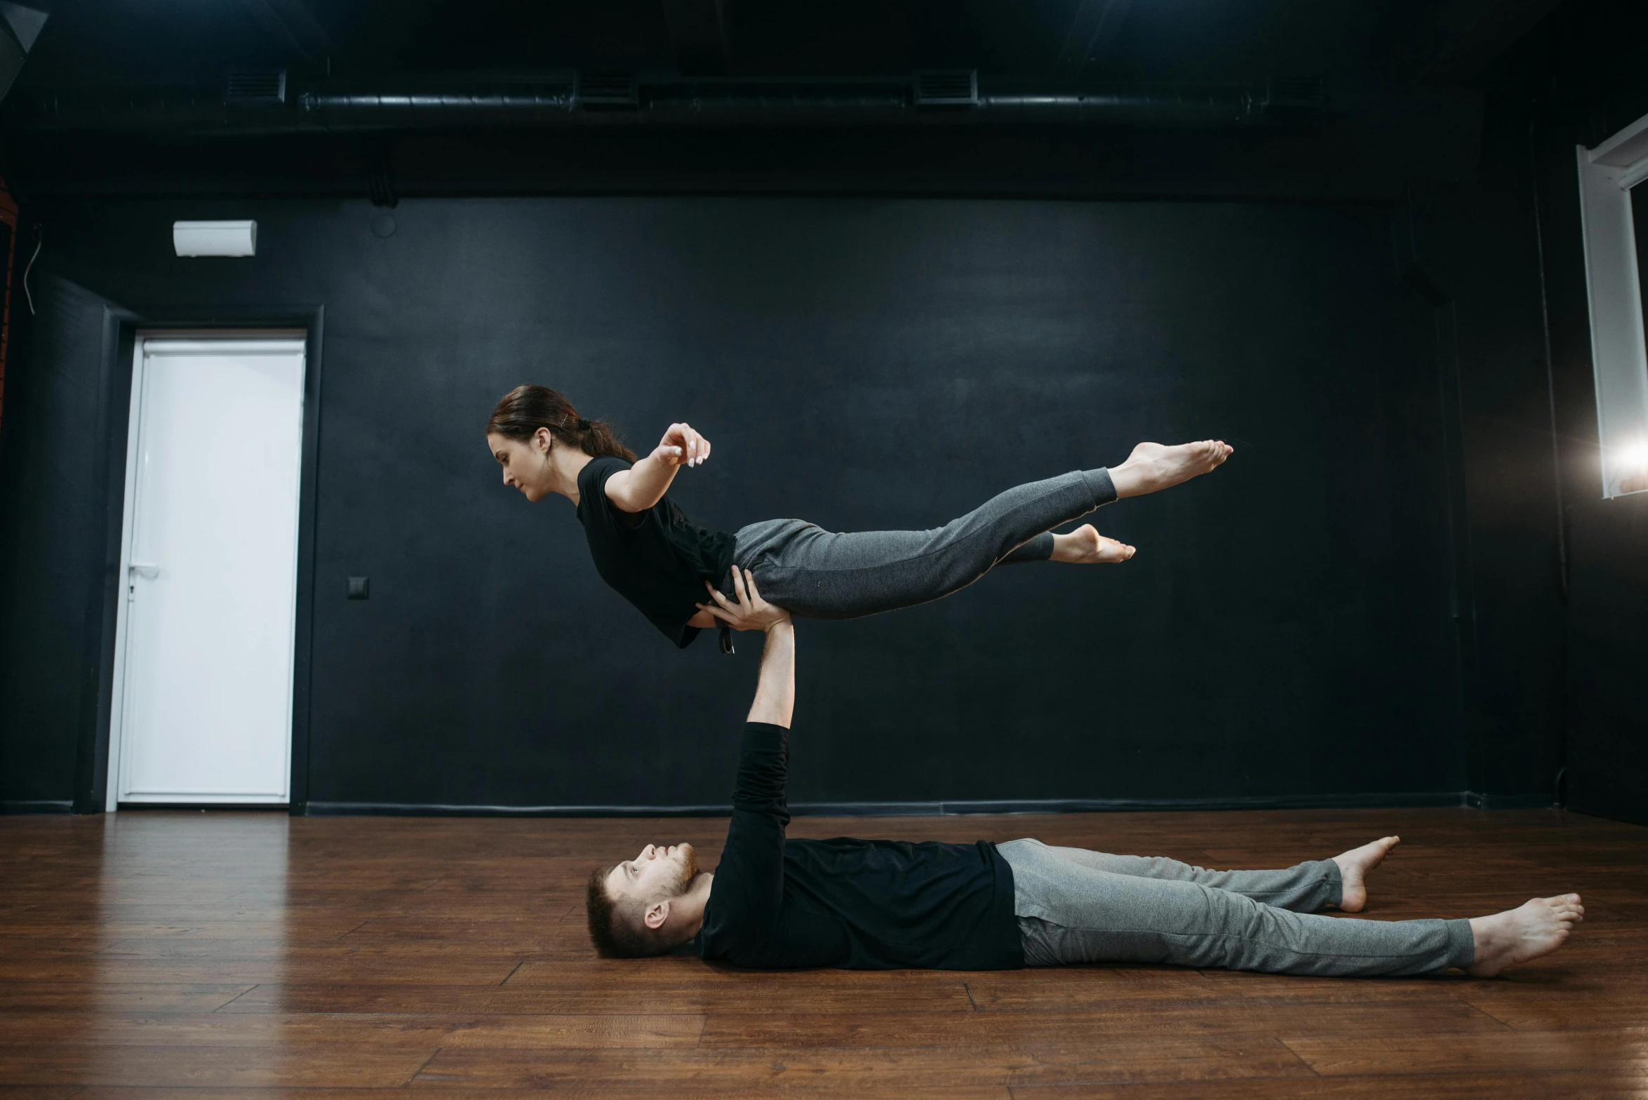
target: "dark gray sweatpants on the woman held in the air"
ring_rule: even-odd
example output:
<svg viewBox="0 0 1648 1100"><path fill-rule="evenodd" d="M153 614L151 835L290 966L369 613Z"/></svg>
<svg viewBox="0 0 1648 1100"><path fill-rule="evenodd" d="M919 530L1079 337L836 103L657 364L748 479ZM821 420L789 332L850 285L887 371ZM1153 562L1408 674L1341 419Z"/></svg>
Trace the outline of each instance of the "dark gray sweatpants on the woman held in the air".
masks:
<svg viewBox="0 0 1648 1100"><path fill-rule="evenodd" d="M1107 469L1078 469L1009 489L933 530L839 534L799 519L750 524L733 565L761 598L806 619L855 619L966 588L995 565L1045 562L1051 529L1116 499ZM732 580L722 583L732 596Z"/></svg>

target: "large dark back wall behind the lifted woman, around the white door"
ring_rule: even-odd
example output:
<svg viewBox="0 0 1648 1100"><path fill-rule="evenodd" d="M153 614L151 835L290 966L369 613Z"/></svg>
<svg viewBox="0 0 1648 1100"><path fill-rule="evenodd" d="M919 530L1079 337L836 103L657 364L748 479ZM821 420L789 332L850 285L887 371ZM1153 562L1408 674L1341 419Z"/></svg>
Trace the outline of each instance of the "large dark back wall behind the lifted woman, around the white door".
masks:
<svg viewBox="0 0 1648 1100"><path fill-rule="evenodd" d="M676 496L727 529L925 527L1142 438L1236 445L1099 514L1139 545L1126 566L803 624L798 802L1467 785L1434 311L1386 207L427 199L389 239L376 212L35 209L40 268L142 316L326 308L311 802L725 802L756 639L676 652L597 578L567 502L498 484L480 425L527 379L639 446L702 428L715 458ZM185 216L257 217L260 255L173 257ZM12 492L41 400L8 402ZM33 690L8 662L5 799L66 784L28 748Z"/></svg>

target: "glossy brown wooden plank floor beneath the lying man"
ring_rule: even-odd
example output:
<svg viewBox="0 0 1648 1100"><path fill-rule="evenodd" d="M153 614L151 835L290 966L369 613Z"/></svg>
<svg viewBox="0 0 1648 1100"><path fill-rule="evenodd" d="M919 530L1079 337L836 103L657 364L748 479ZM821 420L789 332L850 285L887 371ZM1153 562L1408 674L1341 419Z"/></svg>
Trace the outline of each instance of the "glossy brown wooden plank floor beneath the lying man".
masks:
<svg viewBox="0 0 1648 1100"><path fill-rule="evenodd" d="M0 1098L1648 1097L1648 828L1559 810L799 818L1285 866L1398 832L1366 916L1577 889L1491 981L602 962L598 860L717 820L0 818ZM1346 917L1348 919L1348 917Z"/></svg>

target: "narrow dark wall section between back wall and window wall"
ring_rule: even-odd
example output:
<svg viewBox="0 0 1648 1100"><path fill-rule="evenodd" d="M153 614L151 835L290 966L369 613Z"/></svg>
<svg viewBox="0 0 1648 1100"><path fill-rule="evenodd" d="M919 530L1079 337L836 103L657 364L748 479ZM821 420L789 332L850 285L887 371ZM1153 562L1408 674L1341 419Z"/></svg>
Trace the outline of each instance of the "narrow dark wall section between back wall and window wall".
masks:
<svg viewBox="0 0 1648 1100"><path fill-rule="evenodd" d="M1561 767L1562 532L1526 130L1515 175L1412 204L1449 405L1468 787L1549 805Z"/></svg>

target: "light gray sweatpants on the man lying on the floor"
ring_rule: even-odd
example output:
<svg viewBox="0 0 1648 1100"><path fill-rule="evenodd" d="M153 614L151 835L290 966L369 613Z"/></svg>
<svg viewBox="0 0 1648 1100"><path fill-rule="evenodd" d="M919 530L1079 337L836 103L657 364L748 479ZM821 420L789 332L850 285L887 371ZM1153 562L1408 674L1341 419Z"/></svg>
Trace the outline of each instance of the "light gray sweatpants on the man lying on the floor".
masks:
<svg viewBox="0 0 1648 1100"><path fill-rule="evenodd" d="M1014 869L1027 967L1155 962L1325 978L1468 967L1470 921L1358 921L1338 904L1332 860L1284 871L1205 871L1165 858L995 846Z"/></svg>

